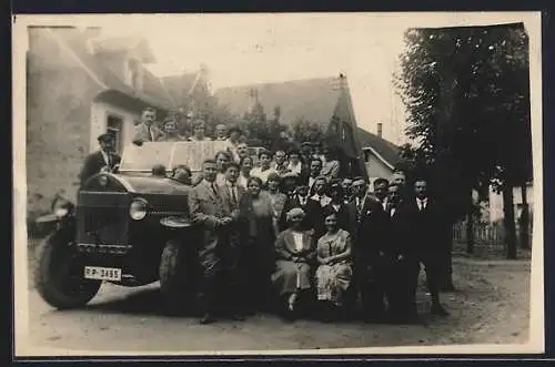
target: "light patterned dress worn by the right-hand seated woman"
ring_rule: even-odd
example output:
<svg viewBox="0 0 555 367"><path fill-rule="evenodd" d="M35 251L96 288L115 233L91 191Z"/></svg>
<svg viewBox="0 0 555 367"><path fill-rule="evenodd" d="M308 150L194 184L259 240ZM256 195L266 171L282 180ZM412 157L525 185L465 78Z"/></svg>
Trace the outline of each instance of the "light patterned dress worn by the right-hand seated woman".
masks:
<svg viewBox="0 0 555 367"><path fill-rule="evenodd" d="M324 234L317 241L319 257L336 256L351 246L349 232L339 230L335 234ZM317 299L330 300L341 306L343 294L351 285L353 268L351 258L331 265L320 265L316 269Z"/></svg>

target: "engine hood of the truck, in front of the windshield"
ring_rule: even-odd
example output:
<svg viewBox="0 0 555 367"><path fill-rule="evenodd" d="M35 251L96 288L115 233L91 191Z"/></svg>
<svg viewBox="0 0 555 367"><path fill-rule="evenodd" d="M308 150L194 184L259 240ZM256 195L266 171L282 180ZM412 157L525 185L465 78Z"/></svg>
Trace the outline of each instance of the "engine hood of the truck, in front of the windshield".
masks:
<svg viewBox="0 0 555 367"><path fill-rule="evenodd" d="M190 190L190 187L171 179L122 174L112 174L111 176L122 184L130 193L183 195Z"/></svg>

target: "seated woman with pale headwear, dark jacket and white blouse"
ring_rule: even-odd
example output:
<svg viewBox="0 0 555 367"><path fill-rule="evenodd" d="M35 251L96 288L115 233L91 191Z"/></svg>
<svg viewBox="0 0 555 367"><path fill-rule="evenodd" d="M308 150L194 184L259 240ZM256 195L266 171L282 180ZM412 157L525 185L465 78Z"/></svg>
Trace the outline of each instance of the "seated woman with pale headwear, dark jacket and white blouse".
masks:
<svg viewBox="0 0 555 367"><path fill-rule="evenodd" d="M312 289L315 243L310 232L302 231L304 216L300 207L289 211L286 221L290 227L275 241L276 261L272 282L287 316L294 316L299 299Z"/></svg>

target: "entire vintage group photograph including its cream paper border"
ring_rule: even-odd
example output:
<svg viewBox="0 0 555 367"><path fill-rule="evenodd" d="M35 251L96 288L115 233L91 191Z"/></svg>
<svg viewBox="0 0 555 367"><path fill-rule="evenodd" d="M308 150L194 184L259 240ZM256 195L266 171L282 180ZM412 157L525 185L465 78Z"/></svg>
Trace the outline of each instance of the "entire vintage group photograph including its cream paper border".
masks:
<svg viewBox="0 0 555 367"><path fill-rule="evenodd" d="M16 355L544 350L539 13L13 30Z"/></svg>

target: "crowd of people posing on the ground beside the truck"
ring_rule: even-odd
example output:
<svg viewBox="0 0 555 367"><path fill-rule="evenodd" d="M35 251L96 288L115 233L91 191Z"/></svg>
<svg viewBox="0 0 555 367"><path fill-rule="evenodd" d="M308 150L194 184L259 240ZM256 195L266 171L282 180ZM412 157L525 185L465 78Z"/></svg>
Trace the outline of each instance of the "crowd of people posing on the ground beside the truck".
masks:
<svg viewBox="0 0 555 367"><path fill-rule="evenodd" d="M370 190L364 177L337 177L339 162L325 157L262 151L253 167L250 157L222 151L203 162L189 193L191 218L203 231L202 324L222 303L235 319L275 306L294 318L316 305L331 320L359 298L369 323L417 322L421 264L431 312L447 315L440 302L442 212L426 180L411 190L398 171Z"/></svg>

